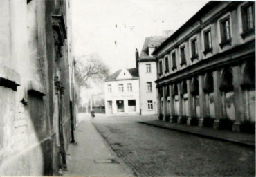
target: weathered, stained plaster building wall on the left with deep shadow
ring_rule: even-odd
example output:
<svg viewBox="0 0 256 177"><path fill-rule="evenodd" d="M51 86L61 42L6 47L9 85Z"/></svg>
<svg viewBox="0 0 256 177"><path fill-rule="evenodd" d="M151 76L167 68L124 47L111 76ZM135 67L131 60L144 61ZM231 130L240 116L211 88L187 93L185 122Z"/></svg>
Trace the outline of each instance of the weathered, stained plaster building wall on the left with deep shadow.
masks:
<svg viewBox="0 0 256 177"><path fill-rule="evenodd" d="M59 175L74 142L70 0L0 0L0 174Z"/></svg>

